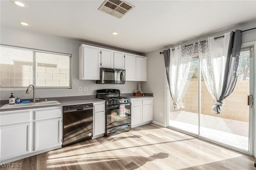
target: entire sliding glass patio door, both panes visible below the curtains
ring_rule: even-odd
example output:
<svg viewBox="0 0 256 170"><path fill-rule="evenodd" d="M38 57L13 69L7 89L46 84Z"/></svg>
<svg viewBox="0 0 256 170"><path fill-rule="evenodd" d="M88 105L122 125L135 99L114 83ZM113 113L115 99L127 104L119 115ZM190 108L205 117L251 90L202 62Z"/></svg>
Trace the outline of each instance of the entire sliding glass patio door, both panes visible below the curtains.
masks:
<svg viewBox="0 0 256 170"><path fill-rule="evenodd" d="M252 45L242 47L235 89L224 99L218 115L211 111L214 100L195 56L181 99L184 108L174 110L169 96L169 127L252 154L252 106L248 106L248 96L252 95L254 82L253 50Z"/></svg>

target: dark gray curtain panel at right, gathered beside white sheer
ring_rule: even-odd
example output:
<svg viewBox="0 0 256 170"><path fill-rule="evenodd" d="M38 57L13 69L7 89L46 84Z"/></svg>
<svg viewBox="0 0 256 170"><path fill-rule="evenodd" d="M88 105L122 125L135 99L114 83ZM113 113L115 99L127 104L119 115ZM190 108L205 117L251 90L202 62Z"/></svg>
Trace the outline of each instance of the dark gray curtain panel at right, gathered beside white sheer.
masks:
<svg viewBox="0 0 256 170"><path fill-rule="evenodd" d="M228 45L228 55L225 66L225 74L222 92L219 98L220 105L222 100L228 97L234 90L237 80L237 72L239 66L239 57L242 45L242 33L241 30L236 30L231 32L230 41ZM216 113L220 113L220 105L217 106Z"/></svg>

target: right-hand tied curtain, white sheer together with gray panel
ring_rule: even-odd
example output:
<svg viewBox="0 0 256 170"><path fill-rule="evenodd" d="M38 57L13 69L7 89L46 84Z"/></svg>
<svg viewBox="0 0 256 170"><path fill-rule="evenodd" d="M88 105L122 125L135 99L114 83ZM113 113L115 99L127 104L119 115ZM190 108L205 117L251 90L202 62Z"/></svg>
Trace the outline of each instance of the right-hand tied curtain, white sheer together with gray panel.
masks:
<svg viewBox="0 0 256 170"><path fill-rule="evenodd" d="M212 111L216 114L220 113L222 100L232 93L236 84L242 43L240 31L198 41L200 66L206 87L215 101Z"/></svg>

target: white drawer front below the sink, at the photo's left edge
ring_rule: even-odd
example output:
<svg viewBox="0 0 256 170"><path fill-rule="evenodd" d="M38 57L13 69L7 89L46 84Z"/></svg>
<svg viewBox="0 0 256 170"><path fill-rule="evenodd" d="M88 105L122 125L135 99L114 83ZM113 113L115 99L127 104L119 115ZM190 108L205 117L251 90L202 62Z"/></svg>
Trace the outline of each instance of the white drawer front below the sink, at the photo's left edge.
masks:
<svg viewBox="0 0 256 170"><path fill-rule="evenodd" d="M30 111L0 115L0 125L9 125L30 121Z"/></svg>

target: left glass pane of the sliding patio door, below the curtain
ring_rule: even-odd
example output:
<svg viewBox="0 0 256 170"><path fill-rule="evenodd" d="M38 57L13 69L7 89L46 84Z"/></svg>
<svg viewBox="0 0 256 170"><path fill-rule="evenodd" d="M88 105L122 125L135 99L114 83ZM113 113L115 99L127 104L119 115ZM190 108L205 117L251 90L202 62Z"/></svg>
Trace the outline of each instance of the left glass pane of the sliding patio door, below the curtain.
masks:
<svg viewBox="0 0 256 170"><path fill-rule="evenodd" d="M198 135L198 56L192 58L186 86L180 98L183 108L175 110L169 93L169 125L193 135ZM168 90L169 92L169 90Z"/></svg>

